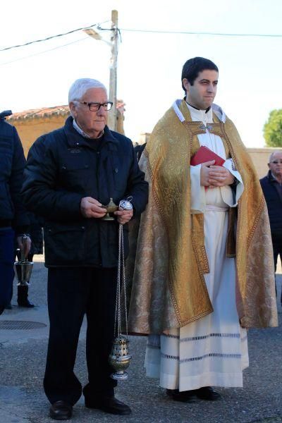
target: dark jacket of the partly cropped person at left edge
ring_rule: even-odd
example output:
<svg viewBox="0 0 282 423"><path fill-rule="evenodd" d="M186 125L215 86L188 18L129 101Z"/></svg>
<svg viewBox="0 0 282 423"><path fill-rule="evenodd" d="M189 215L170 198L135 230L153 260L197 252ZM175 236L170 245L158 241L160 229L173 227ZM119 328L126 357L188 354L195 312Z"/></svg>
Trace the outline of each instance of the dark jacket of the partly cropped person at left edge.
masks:
<svg viewBox="0 0 282 423"><path fill-rule="evenodd" d="M25 156L16 128L5 121L9 115L0 114L0 227L23 233L30 223L20 195Z"/></svg>

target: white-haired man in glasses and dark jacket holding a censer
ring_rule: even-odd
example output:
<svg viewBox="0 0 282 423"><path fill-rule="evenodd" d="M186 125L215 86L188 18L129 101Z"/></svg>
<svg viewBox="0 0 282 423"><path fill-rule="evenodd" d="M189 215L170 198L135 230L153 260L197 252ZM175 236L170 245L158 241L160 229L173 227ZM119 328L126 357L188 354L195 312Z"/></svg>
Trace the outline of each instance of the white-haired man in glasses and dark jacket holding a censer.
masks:
<svg viewBox="0 0 282 423"><path fill-rule="evenodd" d="M59 130L39 137L27 158L23 196L44 217L50 319L44 390L54 419L68 419L82 393L73 372L78 336L87 316L88 384L85 405L118 415L130 407L114 397L108 363L114 338L118 223L128 223L147 204L147 182L132 142L106 125L106 88L76 80L69 91L71 116ZM103 205L132 197L133 210L103 220ZM127 225L124 227L128 254Z"/></svg>

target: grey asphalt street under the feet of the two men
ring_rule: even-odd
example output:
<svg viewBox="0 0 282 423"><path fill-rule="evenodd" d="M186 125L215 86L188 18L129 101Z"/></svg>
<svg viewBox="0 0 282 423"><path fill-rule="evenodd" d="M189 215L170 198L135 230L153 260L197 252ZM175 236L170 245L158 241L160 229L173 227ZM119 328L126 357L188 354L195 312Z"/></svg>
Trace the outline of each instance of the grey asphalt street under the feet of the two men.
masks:
<svg viewBox="0 0 282 423"><path fill-rule="evenodd" d="M281 268L277 279L280 293ZM48 336L46 288L47 269L42 262L35 262L30 300L37 307L30 310L18 308L14 295L13 309L0 317L0 324L8 321L8 329L3 329L3 326L0 329L0 423L54 422L48 417L49 403L42 389ZM119 384L116 395L132 407L133 414L116 417L89 410L80 398L74 407L71 422L282 422L280 305L278 311L278 328L248 332L250 367L244 372L244 388L219 389L223 396L221 401L209 403L199 400L184 404L169 400L157 380L145 377L146 338L131 337L130 353L133 360L128 371L130 377ZM27 329L31 324L23 322L36 322L35 326L39 327ZM16 327L24 326L25 329L11 329L13 324ZM85 384L85 324L80 336L75 372Z"/></svg>

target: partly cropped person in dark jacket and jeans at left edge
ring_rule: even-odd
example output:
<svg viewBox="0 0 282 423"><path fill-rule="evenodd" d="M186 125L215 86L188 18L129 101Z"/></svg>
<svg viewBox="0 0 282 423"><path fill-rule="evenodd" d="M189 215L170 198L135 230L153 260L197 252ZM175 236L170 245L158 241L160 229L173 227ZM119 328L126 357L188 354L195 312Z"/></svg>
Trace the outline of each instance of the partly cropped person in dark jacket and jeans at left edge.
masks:
<svg viewBox="0 0 282 423"><path fill-rule="evenodd" d="M11 111L0 114L0 314L11 302L15 235L17 245L22 248L22 235L30 224L20 195L25 166L23 146L16 128L5 121L6 116L11 114ZM29 236L25 248L27 255Z"/></svg>

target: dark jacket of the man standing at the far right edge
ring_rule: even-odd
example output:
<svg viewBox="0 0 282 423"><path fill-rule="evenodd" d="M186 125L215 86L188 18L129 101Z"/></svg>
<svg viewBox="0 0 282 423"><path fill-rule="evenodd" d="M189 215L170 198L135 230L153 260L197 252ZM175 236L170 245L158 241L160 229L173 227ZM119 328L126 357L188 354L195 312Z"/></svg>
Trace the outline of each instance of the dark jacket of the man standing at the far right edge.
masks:
<svg viewBox="0 0 282 423"><path fill-rule="evenodd" d="M282 198L278 193L277 180L271 175L271 171L260 180L264 197L269 212L269 221L272 239L282 240Z"/></svg>

